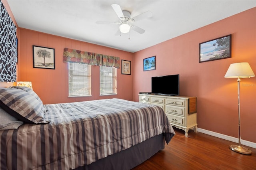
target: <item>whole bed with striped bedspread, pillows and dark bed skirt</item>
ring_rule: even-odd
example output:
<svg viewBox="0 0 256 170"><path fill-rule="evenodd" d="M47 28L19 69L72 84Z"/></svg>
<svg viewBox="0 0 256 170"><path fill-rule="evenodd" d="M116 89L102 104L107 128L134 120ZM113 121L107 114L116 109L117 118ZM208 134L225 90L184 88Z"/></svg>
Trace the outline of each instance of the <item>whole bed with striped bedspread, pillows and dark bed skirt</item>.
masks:
<svg viewBox="0 0 256 170"><path fill-rule="evenodd" d="M0 102L12 118L0 122L1 170L132 169L175 134L160 107L123 99L43 105L32 89L11 87Z"/></svg>

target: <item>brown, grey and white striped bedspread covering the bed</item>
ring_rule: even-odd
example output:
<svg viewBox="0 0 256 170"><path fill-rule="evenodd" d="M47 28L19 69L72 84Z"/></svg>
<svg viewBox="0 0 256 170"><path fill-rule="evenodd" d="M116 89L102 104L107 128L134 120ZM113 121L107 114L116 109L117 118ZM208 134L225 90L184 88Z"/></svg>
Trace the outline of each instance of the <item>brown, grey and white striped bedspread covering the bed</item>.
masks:
<svg viewBox="0 0 256 170"><path fill-rule="evenodd" d="M104 99L44 107L50 123L0 130L0 170L74 169L157 134L168 144L175 134L154 105Z"/></svg>

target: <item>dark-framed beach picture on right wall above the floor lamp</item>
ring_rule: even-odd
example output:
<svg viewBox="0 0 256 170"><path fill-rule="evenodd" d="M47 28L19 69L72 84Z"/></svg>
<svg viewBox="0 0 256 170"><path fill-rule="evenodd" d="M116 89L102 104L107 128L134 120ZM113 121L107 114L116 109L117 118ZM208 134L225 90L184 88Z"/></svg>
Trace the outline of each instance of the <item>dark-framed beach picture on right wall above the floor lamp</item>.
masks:
<svg viewBox="0 0 256 170"><path fill-rule="evenodd" d="M199 63L231 57L231 34L199 44Z"/></svg>

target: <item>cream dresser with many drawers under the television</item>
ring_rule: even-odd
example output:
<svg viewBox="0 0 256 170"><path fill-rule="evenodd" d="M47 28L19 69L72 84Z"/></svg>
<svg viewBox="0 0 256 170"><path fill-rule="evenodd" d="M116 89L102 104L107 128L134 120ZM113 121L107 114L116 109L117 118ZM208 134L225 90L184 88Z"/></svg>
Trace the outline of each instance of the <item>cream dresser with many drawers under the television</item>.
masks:
<svg viewBox="0 0 256 170"><path fill-rule="evenodd" d="M189 129L196 132L196 97L139 94L139 102L160 106L171 125L184 130L186 137Z"/></svg>

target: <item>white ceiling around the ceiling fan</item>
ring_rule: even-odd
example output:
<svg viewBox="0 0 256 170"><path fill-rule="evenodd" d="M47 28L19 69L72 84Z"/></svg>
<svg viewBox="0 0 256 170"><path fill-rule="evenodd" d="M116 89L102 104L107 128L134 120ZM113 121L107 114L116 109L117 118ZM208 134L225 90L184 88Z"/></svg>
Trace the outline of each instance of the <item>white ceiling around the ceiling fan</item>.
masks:
<svg viewBox="0 0 256 170"><path fill-rule="evenodd" d="M153 16L135 21L146 30L118 33L111 4L119 4L131 17L146 11ZM256 0L8 0L21 28L136 52L202 26L256 7ZM130 39L129 39L130 36Z"/></svg>

